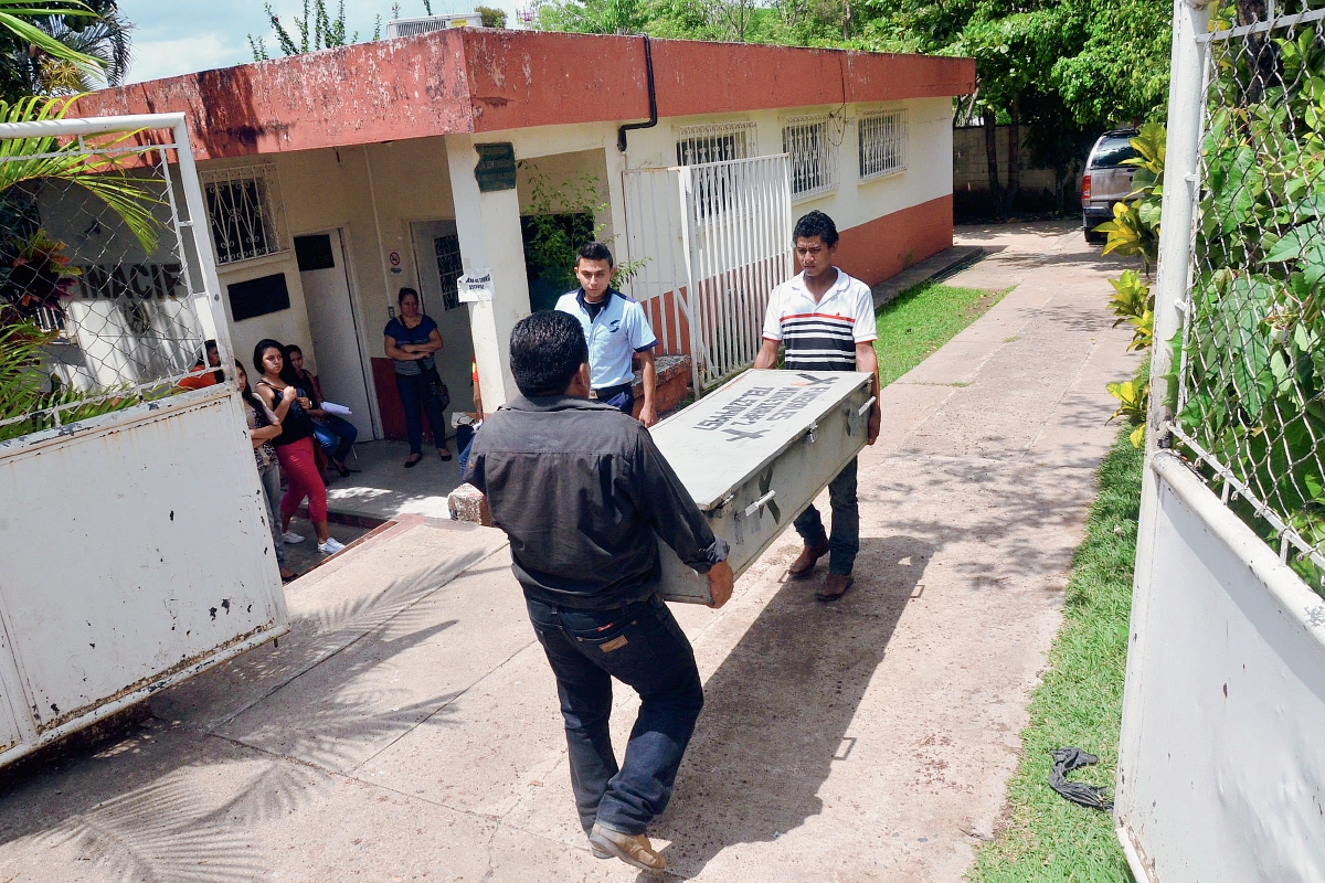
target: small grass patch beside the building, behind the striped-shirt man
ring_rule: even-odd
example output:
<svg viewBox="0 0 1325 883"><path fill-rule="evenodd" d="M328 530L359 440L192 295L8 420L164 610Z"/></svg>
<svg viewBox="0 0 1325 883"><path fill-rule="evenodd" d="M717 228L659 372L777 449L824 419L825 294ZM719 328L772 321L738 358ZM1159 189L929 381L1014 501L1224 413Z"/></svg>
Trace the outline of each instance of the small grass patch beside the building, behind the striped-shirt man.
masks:
<svg viewBox="0 0 1325 883"><path fill-rule="evenodd" d="M874 323L878 340L878 380L882 385L901 377L926 356L979 319L1006 291L957 289L924 282L878 307Z"/></svg>

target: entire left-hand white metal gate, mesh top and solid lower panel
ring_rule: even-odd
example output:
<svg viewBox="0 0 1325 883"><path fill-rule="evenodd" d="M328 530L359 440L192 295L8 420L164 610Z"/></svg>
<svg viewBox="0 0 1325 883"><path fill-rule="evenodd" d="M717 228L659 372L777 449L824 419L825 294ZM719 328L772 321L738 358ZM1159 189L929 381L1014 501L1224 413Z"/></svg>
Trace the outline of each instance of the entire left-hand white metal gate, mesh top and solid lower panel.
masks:
<svg viewBox="0 0 1325 883"><path fill-rule="evenodd" d="M184 115L0 124L0 184L3 767L289 626Z"/></svg>

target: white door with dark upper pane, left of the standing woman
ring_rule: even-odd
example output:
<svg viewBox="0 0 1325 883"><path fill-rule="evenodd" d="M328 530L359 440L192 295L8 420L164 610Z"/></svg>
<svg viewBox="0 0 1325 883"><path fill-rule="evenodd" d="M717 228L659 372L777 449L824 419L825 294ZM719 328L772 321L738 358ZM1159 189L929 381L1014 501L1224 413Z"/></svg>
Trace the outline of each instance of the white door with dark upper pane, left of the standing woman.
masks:
<svg viewBox="0 0 1325 883"><path fill-rule="evenodd" d="M322 395L351 410L346 420L359 430L359 438L372 438L362 335L350 297L341 230L297 236L294 253L313 332L311 369L322 384Z"/></svg>

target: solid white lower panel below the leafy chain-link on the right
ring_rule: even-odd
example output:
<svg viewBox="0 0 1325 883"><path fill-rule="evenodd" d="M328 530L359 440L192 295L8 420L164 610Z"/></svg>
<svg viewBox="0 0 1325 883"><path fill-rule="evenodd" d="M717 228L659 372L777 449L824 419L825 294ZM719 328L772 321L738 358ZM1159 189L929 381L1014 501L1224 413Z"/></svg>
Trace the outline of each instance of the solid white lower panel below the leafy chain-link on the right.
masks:
<svg viewBox="0 0 1325 883"><path fill-rule="evenodd" d="M1322 880L1325 600L1174 454L1153 462L1118 757L1133 870Z"/></svg>

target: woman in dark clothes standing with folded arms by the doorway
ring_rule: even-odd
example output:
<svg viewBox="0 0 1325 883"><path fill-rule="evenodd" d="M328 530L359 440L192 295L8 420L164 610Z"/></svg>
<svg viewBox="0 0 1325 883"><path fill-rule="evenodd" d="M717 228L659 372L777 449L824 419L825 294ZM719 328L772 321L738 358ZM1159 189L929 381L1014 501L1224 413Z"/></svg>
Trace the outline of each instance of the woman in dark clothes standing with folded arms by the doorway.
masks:
<svg viewBox="0 0 1325 883"><path fill-rule="evenodd" d="M387 323L383 335L387 355L396 363L396 389L400 391L400 404L405 409L405 434L409 438L405 469L411 469L423 459L423 414L428 414L437 454L443 459L450 459L447 422L443 418L450 397L433 361L433 353L441 349L437 323L420 310L419 293L413 289L400 289L396 302L400 304L400 315Z"/></svg>

